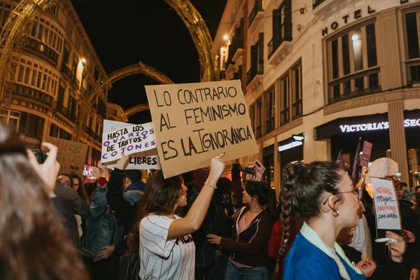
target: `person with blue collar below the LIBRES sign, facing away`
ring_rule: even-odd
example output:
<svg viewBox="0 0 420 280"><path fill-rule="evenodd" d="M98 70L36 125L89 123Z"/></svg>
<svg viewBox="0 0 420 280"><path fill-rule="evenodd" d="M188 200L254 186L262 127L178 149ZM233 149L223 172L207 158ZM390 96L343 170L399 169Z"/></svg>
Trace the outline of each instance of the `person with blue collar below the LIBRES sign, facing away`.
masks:
<svg viewBox="0 0 420 280"><path fill-rule="evenodd" d="M141 180L142 178L141 170L130 169L124 172L124 199L130 202L130 205L139 202L144 195L146 183Z"/></svg>

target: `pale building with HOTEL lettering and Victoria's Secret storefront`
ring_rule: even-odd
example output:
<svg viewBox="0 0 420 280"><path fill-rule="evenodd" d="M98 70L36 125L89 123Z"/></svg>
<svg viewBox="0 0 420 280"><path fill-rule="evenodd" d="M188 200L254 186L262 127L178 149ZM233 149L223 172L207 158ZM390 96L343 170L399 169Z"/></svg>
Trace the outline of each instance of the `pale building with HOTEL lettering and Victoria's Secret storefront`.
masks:
<svg viewBox="0 0 420 280"><path fill-rule="evenodd" d="M419 185L419 40L418 0L228 0L213 47L260 147L241 164L279 190L288 162L342 151L351 173L361 138Z"/></svg>

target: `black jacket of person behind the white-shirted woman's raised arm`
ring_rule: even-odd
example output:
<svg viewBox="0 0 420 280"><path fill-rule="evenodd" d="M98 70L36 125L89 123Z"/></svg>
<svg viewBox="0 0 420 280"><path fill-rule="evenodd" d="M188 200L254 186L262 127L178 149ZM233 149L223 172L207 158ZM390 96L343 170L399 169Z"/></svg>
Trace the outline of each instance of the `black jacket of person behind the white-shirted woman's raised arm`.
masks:
<svg viewBox="0 0 420 280"><path fill-rule="evenodd" d="M190 183L187 191L187 207L189 211L197 196L200 194L200 186ZM195 266L197 268L211 267L216 261L216 247L207 239L207 235L223 235L225 223L225 207L212 197L209 210L199 230L192 234L195 244Z"/></svg>

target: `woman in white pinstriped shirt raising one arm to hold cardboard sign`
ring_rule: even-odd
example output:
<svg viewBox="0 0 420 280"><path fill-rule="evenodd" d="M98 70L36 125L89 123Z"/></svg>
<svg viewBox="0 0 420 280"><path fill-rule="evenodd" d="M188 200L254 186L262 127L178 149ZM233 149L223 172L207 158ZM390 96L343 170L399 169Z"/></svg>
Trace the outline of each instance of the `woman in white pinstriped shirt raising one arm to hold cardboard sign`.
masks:
<svg viewBox="0 0 420 280"><path fill-rule="evenodd" d="M197 231L209 209L216 182L225 164L222 155L211 160L211 169L200 195L185 218L176 216L187 205L187 188L181 176L164 179L162 171L148 180L130 248L139 248L141 279L194 279L195 245L191 233Z"/></svg>

